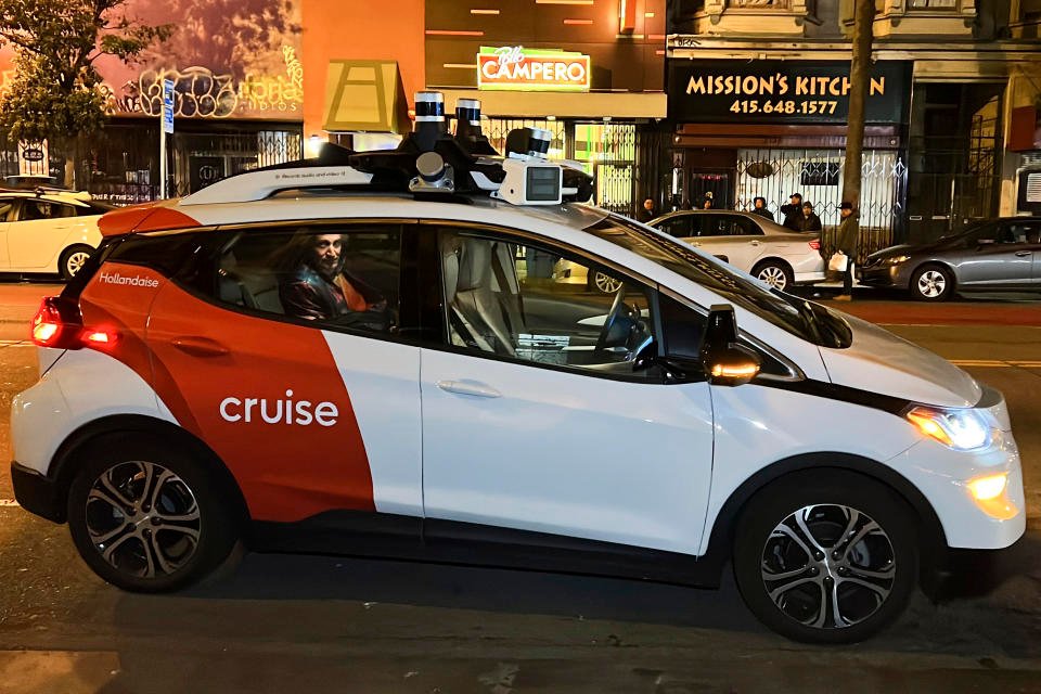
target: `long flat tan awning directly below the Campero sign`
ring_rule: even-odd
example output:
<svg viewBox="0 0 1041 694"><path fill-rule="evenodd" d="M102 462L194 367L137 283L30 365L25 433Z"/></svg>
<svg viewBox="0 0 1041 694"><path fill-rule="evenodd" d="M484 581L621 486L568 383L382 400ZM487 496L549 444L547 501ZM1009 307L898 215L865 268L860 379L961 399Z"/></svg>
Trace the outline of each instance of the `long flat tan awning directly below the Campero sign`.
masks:
<svg viewBox="0 0 1041 694"><path fill-rule="evenodd" d="M442 89L445 111L454 112L459 99L479 99L485 116L544 118L665 118L668 114L665 92L558 93L534 91L492 91Z"/></svg>

